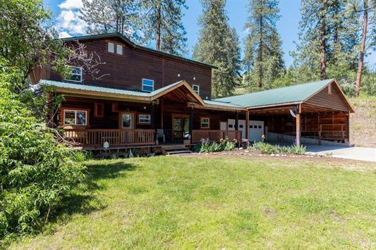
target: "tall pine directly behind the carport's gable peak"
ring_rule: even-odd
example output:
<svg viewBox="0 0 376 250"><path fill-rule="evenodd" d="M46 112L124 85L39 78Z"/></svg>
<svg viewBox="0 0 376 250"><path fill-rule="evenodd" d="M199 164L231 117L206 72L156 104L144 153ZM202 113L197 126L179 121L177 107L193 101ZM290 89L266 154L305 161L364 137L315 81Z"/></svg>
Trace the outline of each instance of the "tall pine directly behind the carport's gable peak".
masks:
<svg viewBox="0 0 376 250"><path fill-rule="evenodd" d="M291 53L301 80L335 77L340 83L351 82L359 39L357 18L346 14L346 4L347 0L302 2L301 42Z"/></svg>

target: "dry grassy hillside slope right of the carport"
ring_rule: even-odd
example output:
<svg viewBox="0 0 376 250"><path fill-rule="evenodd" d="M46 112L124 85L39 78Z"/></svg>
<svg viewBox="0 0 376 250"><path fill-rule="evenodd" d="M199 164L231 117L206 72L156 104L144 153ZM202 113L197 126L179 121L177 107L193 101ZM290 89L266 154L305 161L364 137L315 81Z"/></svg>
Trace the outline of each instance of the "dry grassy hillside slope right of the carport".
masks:
<svg viewBox="0 0 376 250"><path fill-rule="evenodd" d="M350 99L355 113L350 116L350 142L376 147L376 96Z"/></svg>

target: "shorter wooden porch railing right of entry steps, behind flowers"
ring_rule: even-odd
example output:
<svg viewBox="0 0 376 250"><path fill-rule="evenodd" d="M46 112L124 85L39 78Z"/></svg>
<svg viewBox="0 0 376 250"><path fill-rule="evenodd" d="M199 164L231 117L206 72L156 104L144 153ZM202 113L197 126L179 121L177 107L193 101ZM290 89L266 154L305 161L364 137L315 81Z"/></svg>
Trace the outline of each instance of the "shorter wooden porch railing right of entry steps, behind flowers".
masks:
<svg viewBox="0 0 376 250"><path fill-rule="evenodd" d="M192 142L197 143L202 139L210 139L212 142L218 142L220 139L225 139L229 137L229 140L237 139L238 142L241 141L241 131L240 130L193 130L192 131Z"/></svg>

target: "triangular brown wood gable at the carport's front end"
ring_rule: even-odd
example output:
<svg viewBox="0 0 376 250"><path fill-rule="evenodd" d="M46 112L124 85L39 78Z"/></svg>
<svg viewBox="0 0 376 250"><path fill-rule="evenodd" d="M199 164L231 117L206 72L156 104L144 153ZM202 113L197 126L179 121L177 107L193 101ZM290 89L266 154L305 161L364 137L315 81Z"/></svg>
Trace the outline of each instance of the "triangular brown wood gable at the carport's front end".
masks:
<svg viewBox="0 0 376 250"><path fill-rule="evenodd" d="M349 109L344 96L334 83L332 83L332 94L328 94L328 87L325 87L320 92L305 101L304 104L325 106L337 111L348 111Z"/></svg>

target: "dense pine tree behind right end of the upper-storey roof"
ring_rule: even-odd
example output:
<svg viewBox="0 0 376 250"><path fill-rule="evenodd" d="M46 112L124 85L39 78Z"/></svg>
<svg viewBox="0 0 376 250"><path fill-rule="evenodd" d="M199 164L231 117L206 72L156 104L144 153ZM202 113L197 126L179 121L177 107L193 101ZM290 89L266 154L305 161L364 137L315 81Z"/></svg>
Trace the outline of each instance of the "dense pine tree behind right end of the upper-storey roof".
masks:
<svg viewBox="0 0 376 250"><path fill-rule="evenodd" d="M218 67L213 71L212 94L229 96L239 84L239 39L224 9L225 0L202 0L203 11L199 18L200 35L193 48L193 58Z"/></svg>

